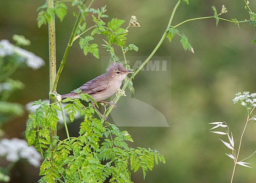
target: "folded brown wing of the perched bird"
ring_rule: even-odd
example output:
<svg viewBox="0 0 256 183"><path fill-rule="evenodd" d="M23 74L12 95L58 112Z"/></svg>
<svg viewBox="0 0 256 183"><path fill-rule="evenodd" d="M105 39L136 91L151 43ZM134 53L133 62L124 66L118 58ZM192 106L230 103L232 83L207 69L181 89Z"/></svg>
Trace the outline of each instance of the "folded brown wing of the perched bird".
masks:
<svg viewBox="0 0 256 183"><path fill-rule="evenodd" d="M107 80L106 74L100 75L79 87L79 89L82 90L81 93L88 94L101 93L107 90L108 88L109 82Z"/></svg>

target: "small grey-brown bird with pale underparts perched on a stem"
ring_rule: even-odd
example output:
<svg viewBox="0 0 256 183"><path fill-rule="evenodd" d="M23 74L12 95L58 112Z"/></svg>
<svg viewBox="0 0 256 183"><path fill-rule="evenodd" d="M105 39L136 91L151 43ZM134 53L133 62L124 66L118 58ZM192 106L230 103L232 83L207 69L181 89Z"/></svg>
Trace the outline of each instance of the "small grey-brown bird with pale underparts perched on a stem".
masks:
<svg viewBox="0 0 256 183"><path fill-rule="evenodd" d="M80 93L87 93L93 97L95 102L102 102L107 104L111 103L115 108L116 104L114 102L106 102L104 100L111 97L116 92L116 90L121 87L122 81L129 73L134 73L134 71L127 70L123 64L115 62L108 68L106 73L96 77L95 79L92 79L91 81L86 82L78 89L82 90ZM62 99L67 97L78 98L78 93L75 93L73 90L70 93L61 95ZM95 103L93 101L91 102L93 104L93 108L95 108L95 110L100 113L95 107ZM100 115L103 117L101 113ZM106 121L105 117L104 120Z"/></svg>

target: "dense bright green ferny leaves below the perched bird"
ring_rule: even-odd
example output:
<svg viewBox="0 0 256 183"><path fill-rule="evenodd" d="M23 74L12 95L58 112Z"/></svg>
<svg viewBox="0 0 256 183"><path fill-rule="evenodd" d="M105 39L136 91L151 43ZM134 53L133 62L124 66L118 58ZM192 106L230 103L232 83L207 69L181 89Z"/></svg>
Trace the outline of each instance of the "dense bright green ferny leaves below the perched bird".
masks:
<svg viewBox="0 0 256 183"><path fill-rule="evenodd" d="M82 100L88 101L88 96L80 94ZM79 99L64 99L70 121L74 114L80 112L83 121L80 125L78 137L60 140L54 137L50 142L48 128L54 128L57 123L57 111L61 111L58 103L42 103L35 101L32 105L39 105L35 114L30 115L27 124L26 137L28 145L34 144L45 159L40 168L41 182L132 182L128 165L136 172L142 168L145 178L146 172L152 170L154 161L165 163L164 157L156 150L145 148L129 148L126 141L133 142L127 131L120 131L115 124L103 122L94 118L94 108L85 107ZM103 142L102 142L103 141ZM102 143L101 143L102 142ZM50 146L57 143L56 151ZM50 159L50 161L49 161Z"/></svg>

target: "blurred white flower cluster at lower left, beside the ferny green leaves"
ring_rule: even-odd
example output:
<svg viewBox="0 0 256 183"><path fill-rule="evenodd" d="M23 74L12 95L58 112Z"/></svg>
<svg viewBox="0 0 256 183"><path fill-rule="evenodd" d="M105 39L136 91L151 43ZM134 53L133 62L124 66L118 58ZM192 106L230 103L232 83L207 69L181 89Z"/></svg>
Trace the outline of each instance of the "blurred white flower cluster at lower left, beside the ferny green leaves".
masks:
<svg viewBox="0 0 256 183"><path fill-rule="evenodd" d="M22 139L2 139L0 141L0 156L5 156L7 161L17 162L19 159L27 159L34 167L41 164L41 155L37 150Z"/></svg>

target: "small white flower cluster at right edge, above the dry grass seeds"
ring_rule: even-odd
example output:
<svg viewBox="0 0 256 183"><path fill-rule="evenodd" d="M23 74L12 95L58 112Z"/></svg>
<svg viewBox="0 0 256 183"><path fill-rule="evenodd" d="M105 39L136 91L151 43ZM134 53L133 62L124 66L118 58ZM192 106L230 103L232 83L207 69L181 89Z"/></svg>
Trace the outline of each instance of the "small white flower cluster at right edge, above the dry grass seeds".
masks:
<svg viewBox="0 0 256 183"><path fill-rule="evenodd" d="M236 97L233 99L234 104L240 103L242 106L256 107L256 93L241 92L236 93Z"/></svg>

